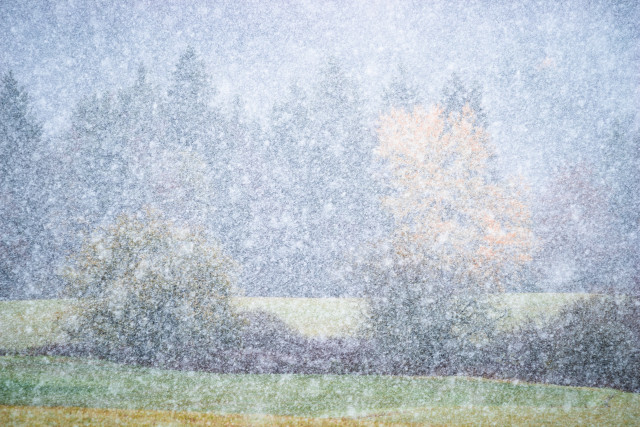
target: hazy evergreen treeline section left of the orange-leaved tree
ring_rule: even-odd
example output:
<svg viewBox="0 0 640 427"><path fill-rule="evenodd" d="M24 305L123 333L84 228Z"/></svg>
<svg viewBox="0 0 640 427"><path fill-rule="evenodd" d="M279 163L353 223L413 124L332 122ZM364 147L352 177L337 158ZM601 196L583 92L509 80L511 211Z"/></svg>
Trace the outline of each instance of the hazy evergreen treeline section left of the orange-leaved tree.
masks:
<svg viewBox="0 0 640 427"><path fill-rule="evenodd" d="M10 74L4 84L24 120L37 123L26 91ZM79 102L68 130L50 141L39 124L10 123L4 296L55 295L56 267L83 234L144 206L221 240L242 263L249 294L344 293L340 255L380 228L372 118L356 84L330 60L311 91L291 86L268 126L248 119L240 99L216 104L215 95L189 49L168 88L141 67L132 86Z"/></svg>

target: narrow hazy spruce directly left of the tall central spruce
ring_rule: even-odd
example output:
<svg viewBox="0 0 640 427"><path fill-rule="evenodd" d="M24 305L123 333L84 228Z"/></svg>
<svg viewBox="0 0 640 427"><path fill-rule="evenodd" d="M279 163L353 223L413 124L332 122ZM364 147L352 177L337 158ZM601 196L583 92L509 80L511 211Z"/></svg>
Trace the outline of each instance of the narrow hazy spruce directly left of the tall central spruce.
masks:
<svg viewBox="0 0 640 427"><path fill-rule="evenodd" d="M297 85L292 85L282 102L271 113L267 162L267 199L257 212L259 225L268 238L262 251L271 261L263 271L275 292L304 294L311 277L317 274L312 260L312 216L317 212L316 190L319 185L319 141L314 135L310 99ZM279 289L279 290L278 290Z"/></svg>

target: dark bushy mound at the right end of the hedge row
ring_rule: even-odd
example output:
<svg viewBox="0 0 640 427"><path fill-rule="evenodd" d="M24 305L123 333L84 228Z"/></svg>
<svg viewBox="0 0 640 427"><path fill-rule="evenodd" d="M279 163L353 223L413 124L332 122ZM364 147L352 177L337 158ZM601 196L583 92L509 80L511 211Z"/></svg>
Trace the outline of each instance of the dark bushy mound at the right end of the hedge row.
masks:
<svg viewBox="0 0 640 427"><path fill-rule="evenodd" d="M503 378L640 392L640 299L576 302L544 325L503 334L491 356Z"/></svg>

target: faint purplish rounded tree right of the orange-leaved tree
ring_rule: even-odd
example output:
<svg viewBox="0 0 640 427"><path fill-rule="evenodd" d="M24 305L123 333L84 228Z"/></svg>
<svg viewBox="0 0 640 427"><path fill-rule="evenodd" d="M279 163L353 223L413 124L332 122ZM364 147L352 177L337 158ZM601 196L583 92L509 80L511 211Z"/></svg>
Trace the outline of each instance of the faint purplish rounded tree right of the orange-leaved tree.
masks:
<svg viewBox="0 0 640 427"><path fill-rule="evenodd" d="M586 164L567 166L550 178L540 200L536 233L538 268L565 291L612 289L629 282L631 250L609 189Z"/></svg>

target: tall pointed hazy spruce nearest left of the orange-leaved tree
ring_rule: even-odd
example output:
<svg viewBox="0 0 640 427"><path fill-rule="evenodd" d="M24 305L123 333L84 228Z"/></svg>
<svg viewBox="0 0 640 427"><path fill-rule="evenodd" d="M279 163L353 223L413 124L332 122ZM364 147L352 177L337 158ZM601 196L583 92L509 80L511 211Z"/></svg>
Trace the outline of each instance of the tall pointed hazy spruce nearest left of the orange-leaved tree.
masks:
<svg viewBox="0 0 640 427"><path fill-rule="evenodd" d="M373 118L368 120L364 114L357 83L334 58L321 70L312 105L314 135L321 149L315 195L320 203L319 227L314 241L322 244L320 277L331 278L345 253L356 249L355 242L369 240L381 224L379 186L372 170ZM338 294L344 292L344 285L334 277L327 290Z"/></svg>

